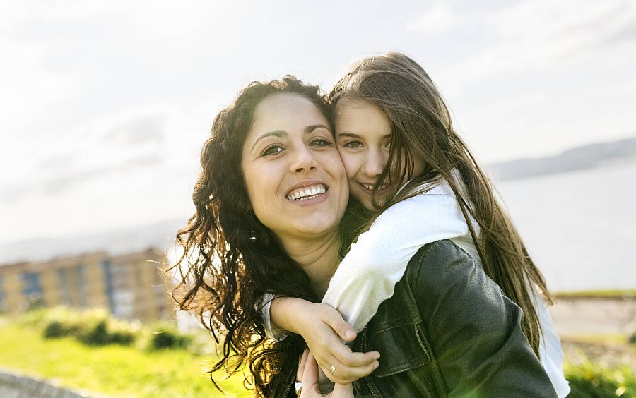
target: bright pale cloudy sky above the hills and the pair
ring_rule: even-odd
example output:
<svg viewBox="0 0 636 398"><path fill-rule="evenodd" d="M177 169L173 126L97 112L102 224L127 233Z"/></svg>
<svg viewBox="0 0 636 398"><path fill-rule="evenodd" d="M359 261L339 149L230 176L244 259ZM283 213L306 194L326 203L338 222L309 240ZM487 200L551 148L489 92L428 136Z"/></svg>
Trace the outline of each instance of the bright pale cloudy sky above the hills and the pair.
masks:
<svg viewBox="0 0 636 398"><path fill-rule="evenodd" d="M428 71L483 163L636 135L636 1L4 0L0 243L189 216L213 117L253 80Z"/></svg>

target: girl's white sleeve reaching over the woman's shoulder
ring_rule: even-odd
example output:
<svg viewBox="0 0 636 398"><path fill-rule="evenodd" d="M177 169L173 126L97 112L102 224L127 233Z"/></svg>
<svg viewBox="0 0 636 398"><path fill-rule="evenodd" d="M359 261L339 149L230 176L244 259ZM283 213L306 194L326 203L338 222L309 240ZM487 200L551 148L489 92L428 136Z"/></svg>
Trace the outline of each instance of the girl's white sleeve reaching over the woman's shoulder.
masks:
<svg viewBox="0 0 636 398"><path fill-rule="evenodd" d="M385 210L342 260L322 300L354 330L363 330L382 301L393 295L408 260L434 241L469 234L450 186L439 186Z"/></svg>

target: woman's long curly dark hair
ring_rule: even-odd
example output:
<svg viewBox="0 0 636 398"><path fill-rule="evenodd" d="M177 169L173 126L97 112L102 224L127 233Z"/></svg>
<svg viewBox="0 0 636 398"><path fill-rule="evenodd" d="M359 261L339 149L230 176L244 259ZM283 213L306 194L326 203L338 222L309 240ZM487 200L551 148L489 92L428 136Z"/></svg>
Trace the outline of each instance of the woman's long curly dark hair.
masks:
<svg viewBox="0 0 636 398"><path fill-rule="evenodd" d="M289 380L306 344L291 335L265 342L258 306L264 293L319 302L302 268L286 255L276 236L250 210L241 169L242 147L254 111L269 95L295 93L327 113L326 98L317 86L293 76L253 82L220 111L201 151L202 171L194 186L196 212L177 232L182 249L170 270L180 272L172 291L179 308L195 313L223 352L212 367L240 373L249 364L244 384L259 396L271 396ZM284 387L284 384L283 384Z"/></svg>

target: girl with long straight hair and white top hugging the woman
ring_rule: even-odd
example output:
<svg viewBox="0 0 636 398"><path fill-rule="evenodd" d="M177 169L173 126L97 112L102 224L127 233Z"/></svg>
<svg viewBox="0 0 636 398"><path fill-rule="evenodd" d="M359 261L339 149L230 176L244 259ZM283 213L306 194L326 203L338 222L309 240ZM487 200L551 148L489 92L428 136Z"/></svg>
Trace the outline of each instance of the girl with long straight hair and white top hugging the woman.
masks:
<svg viewBox="0 0 636 398"><path fill-rule="evenodd" d="M339 310L353 329L363 330L379 303L394 293L418 248L451 239L485 265L485 272L524 310L524 333L559 396L565 397L563 352L538 293L550 301L546 284L487 177L454 132L428 74L404 54L369 57L336 84L331 102L351 195L366 210L381 214L344 258L323 302ZM274 331L269 334L281 334L276 326L298 332L324 370L338 369L326 372L331 380L358 378L348 366L351 351L334 332L347 326L334 310L329 312L331 307L322 308L322 316L303 317L297 315L307 313L302 301L273 303Z"/></svg>

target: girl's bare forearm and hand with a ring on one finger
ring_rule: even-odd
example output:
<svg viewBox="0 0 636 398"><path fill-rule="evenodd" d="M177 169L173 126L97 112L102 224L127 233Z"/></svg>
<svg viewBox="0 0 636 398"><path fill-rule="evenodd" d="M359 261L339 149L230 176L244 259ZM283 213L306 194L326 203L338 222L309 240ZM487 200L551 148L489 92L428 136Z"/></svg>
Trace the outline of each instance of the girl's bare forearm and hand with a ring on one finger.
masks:
<svg viewBox="0 0 636 398"><path fill-rule="evenodd" d="M272 301L270 315L278 327L305 339L322 373L331 382L347 384L379 366L379 352L352 352L343 344L343 340L353 342L356 334L331 306L280 297Z"/></svg>

